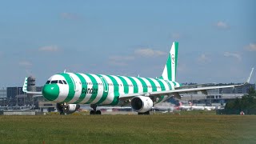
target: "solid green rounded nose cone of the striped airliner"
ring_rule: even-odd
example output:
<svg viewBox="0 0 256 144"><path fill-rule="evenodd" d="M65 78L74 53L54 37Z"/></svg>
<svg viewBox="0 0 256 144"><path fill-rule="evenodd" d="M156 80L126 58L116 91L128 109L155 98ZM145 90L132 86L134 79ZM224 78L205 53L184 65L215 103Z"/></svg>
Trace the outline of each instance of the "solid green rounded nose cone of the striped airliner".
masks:
<svg viewBox="0 0 256 144"><path fill-rule="evenodd" d="M54 101L56 98L58 98L58 94L59 87L57 84L46 84L42 88L42 96L49 101Z"/></svg>

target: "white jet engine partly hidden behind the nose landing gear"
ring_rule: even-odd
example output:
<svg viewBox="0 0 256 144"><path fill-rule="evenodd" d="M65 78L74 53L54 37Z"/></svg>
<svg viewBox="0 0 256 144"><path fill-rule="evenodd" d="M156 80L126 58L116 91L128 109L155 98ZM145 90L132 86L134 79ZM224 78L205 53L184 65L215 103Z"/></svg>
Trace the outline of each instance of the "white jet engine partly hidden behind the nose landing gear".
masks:
<svg viewBox="0 0 256 144"><path fill-rule="evenodd" d="M72 114L80 108L78 104L57 103L57 110L60 114Z"/></svg>

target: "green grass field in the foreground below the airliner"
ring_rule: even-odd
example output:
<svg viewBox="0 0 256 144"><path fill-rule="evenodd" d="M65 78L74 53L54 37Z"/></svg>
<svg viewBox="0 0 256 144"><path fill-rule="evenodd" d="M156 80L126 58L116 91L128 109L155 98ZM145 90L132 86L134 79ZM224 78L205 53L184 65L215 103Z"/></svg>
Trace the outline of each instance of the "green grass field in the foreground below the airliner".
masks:
<svg viewBox="0 0 256 144"><path fill-rule="evenodd" d="M0 116L0 143L255 143L256 116Z"/></svg>

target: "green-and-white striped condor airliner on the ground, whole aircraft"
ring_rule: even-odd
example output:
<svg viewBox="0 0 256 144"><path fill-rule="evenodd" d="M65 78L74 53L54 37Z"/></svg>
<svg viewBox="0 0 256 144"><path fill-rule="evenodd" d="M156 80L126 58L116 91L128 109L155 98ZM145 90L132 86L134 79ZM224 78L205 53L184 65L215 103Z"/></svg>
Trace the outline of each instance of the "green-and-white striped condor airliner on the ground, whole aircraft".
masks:
<svg viewBox="0 0 256 144"><path fill-rule="evenodd" d="M26 94L41 95L50 102L57 103L60 114L71 114L78 110L79 104L90 104L90 114L102 114L97 106L127 106L138 114L150 114L152 107L168 98L181 98L180 94L206 90L235 87L210 86L189 88L176 82L178 62L178 42L173 42L166 66L159 78L127 77L105 74L67 73L52 75L42 88L42 92L26 90L27 78L23 85ZM253 71L253 70L252 70ZM252 73L251 71L251 73ZM251 75L250 75L251 76ZM247 84L250 78L243 84Z"/></svg>

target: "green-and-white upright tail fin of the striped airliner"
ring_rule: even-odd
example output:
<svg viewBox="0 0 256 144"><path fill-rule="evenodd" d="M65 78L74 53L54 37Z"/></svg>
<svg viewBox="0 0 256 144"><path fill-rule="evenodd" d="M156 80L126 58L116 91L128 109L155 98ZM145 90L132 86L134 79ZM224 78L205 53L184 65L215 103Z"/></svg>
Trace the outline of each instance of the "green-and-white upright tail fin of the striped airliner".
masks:
<svg viewBox="0 0 256 144"><path fill-rule="evenodd" d="M162 79L168 81L176 81L176 70L178 61L178 42L173 42L170 49L170 54L168 56L165 69L162 72Z"/></svg>

